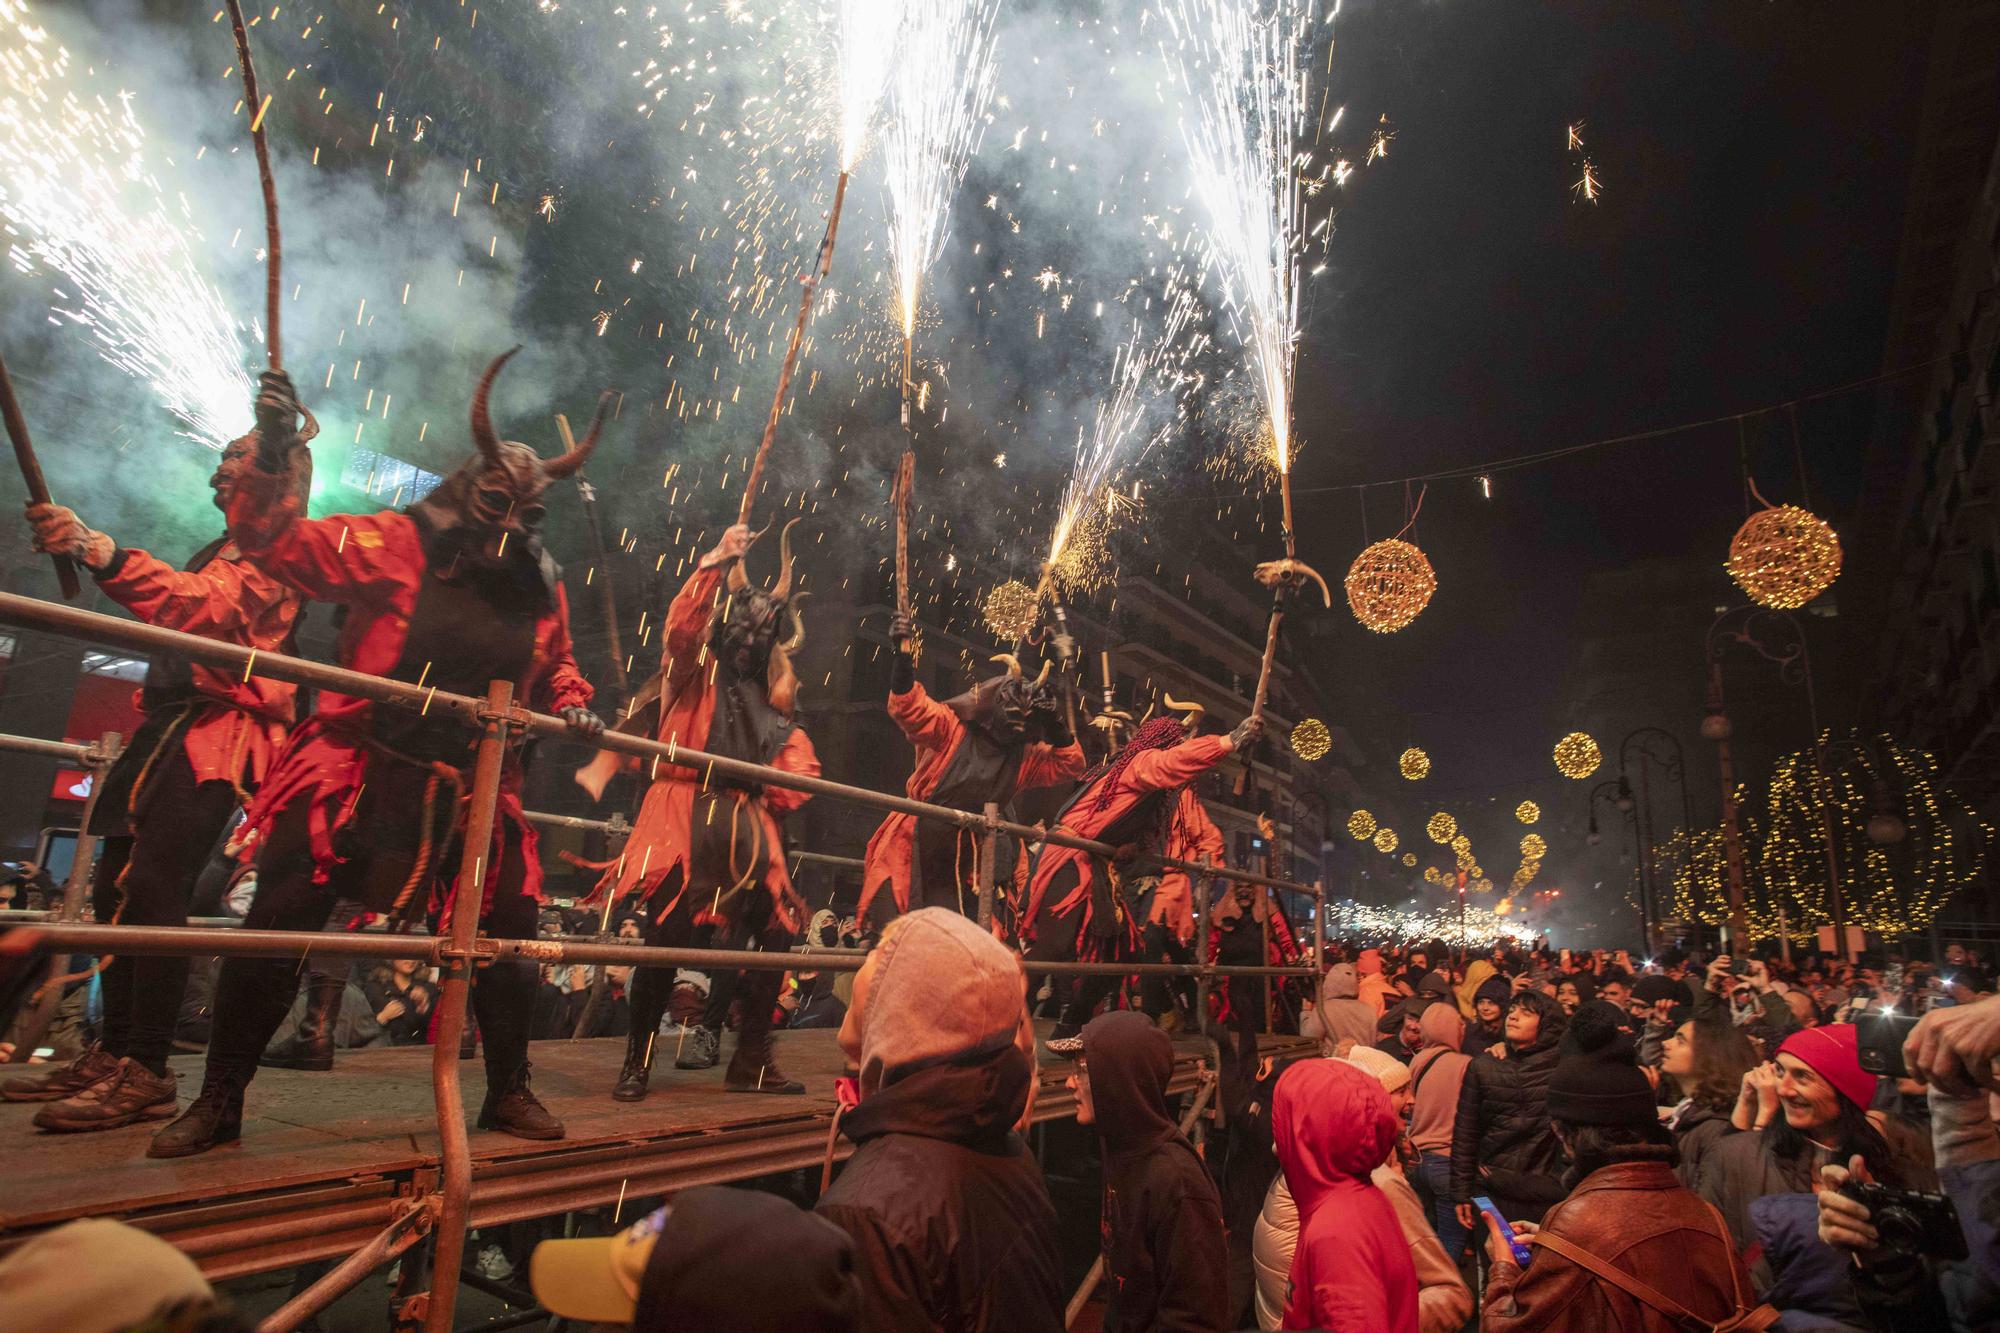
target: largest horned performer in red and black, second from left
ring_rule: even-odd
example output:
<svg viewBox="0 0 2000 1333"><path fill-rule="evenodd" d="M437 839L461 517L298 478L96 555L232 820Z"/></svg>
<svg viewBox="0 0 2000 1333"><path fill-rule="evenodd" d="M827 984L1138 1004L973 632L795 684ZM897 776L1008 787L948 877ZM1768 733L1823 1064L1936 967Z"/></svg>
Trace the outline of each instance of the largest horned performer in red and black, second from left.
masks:
<svg viewBox="0 0 2000 1333"><path fill-rule="evenodd" d="M516 348L518 350L518 348ZM230 498L230 536L266 572L316 600L338 602L342 666L440 691L484 695L496 679L516 697L560 713L578 735L604 725L570 654L560 570L536 528L542 492L576 472L596 446L610 400L598 402L574 450L542 460L502 440L488 414L494 360L472 396L478 454L402 512L304 518L288 472L292 386L264 376L260 448ZM392 919L430 917L450 903L466 821L478 729L446 713L410 713L326 691L246 815L258 893L246 929L318 931L336 897ZM486 857L482 925L500 939L534 939L542 867L522 819L522 761L510 751ZM244 1087L298 991L292 959L226 959L202 1095L162 1129L150 1155L182 1157L236 1139ZM478 1125L524 1139L560 1139L562 1125L528 1089L534 965L482 967L472 1007L486 1039L486 1103Z"/></svg>

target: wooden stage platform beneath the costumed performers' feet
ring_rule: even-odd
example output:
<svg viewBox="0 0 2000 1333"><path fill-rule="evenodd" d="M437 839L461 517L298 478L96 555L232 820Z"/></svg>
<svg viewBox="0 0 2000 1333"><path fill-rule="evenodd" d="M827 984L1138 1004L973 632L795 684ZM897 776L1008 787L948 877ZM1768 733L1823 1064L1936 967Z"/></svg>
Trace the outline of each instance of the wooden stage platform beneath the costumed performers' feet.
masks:
<svg viewBox="0 0 2000 1333"><path fill-rule="evenodd" d="M1046 1025L1044 1025L1046 1027ZM1176 1039L1172 1091L1194 1089L1212 1047ZM730 1039L724 1037L724 1059ZM1264 1037L1286 1061L1316 1043ZM472 1131L472 1225L642 1199L816 1167L826 1153L840 1051L834 1033L780 1033L778 1061L804 1097L726 1093L722 1067L672 1069L662 1051L652 1095L610 1099L624 1039L538 1041L534 1089L568 1137L528 1143ZM176 1057L182 1105L200 1089L200 1057ZM480 1061L460 1065L468 1119L486 1091ZM1066 1061L1042 1059L1036 1119L1068 1119ZM152 1161L158 1123L92 1135L36 1131L34 1105L0 1103L0 1249L76 1217L118 1217L172 1241L212 1279L332 1259L386 1227L396 1201L438 1173L430 1047L342 1051L332 1073L264 1069L250 1087L240 1143ZM846 1155L842 1139L836 1153Z"/></svg>

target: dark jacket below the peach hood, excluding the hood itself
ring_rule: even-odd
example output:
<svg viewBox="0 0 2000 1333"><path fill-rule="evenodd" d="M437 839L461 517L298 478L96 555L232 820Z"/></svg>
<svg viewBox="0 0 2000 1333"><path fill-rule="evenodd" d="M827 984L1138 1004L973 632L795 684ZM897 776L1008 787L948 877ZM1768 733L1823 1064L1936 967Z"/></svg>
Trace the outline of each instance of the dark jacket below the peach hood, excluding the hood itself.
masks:
<svg viewBox="0 0 2000 1333"><path fill-rule="evenodd" d="M1030 1077L1008 1045L916 1069L842 1119L854 1157L816 1211L854 1237L862 1327L1062 1329L1056 1209L1012 1131Z"/></svg>

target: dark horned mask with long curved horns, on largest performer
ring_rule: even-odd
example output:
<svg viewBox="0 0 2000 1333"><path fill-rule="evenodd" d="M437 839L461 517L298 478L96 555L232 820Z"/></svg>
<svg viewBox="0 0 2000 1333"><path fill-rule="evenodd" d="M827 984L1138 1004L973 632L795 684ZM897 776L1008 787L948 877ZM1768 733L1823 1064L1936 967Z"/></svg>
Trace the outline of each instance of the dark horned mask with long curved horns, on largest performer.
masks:
<svg viewBox="0 0 2000 1333"><path fill-rule="evenodd" d="M584 466L590 450L598 446L598 432L612 404L612 394L602 394L590 430L556 458L542 458L526 444L502 440L494 430L488 400L500 368L518 350L516 346L496 356L472 392L472 442L480 452L412 506L424 512L434 530L458 534L464 556L502 560L510 544L518 544L522 556L538 552L538 530L548 516L542 492L548 490L548 482L572 476Z"/></svg>

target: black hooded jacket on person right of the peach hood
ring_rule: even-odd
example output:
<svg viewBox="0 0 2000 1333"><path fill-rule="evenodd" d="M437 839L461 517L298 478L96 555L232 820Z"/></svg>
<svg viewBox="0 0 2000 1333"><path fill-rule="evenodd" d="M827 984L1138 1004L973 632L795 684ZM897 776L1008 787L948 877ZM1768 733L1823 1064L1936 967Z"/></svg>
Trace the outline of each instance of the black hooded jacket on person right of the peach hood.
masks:
<svg viewBox="0 0 2000 1333"><path fill-rule="evenodd" d="M1106 1333L1228 1329L1222 1199L1166 1109L1174 1043L1118 1009L1084 1027L1084 1067L1104 1149Z"/></svg>

